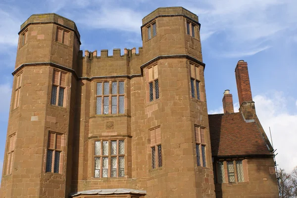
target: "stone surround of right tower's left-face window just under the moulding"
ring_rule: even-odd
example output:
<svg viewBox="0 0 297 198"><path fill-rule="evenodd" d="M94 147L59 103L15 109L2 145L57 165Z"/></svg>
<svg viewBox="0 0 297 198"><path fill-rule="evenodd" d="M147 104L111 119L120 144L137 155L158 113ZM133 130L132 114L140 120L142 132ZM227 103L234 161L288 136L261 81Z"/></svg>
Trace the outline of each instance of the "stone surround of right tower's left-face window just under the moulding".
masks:
<svg viewBox="0 0 297 198"><path fill-rule="evenodd" d="M155 69L156 68L156 69ZM151 77L149 77L149 70L151 69ZM159 82L159 78L158 78L158 65L157 64L153 64L151 66L149 66L148 68L146 68L146 80L147 80L147 102L151 103L154 101L157 101L160 99L160 82ZM158 81L158 98L156 99L156 80ZM150 90L149 90L149 86L150 83L152 83L152 100L150 100Z"/></svg>

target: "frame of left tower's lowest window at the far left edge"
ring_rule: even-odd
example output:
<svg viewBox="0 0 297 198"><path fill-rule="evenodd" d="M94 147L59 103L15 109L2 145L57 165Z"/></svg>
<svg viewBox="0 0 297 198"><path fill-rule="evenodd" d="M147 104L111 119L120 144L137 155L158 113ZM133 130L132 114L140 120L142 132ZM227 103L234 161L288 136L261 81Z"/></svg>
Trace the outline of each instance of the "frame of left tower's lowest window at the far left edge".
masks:
<svg viewBox="0 0 297 198"><path fill-rule="evenodd" d="M12 139L12 142L10 141ZM9 141L7 141L7 150L6 150L6 162L5 167L3 166L3 169L5 170L4 176L8 176L12 174L12 164L14 161L14 150L15 150L15 142L16 142L16 133L13 133L8 136ZM12 146L10 148L10 144L12 143ZM10 156L10 157L9 157Z"/></svg>

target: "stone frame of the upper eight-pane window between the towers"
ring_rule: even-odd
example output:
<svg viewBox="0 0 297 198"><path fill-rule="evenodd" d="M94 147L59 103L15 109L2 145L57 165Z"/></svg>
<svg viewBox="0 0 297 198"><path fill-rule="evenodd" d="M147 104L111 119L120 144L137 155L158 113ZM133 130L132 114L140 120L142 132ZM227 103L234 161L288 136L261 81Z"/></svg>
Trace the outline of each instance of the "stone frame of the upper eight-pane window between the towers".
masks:
<svg viewBox="0 0 297 198"><path fill-rule="evenodd" d="M108 82L108 94L104 93L104 83ZM116 93L113 94L112 93L112 83L116 82ZM120 93L120 82L123 82L123 93ZM106 115L123 115L125 114L125 99L126 99L126 80L124 79L116 79L116 80L103 80L103 81L96 81L95 82L95 86L96 86L96 92L95 92L95 115L100 115L100 116L106 116ZM98 90L98 85L99 83L101 83L101 95L98 94L97 90ZM108 114L104 113L104 98L108 97ZM112 97L116 97L116 113L112 113ZM120 109L120 98L123 97L123 110L121 113L121 109ZM100 107L100 114L98 114L97 111L97 98L101 98L101 107Z"/></svg>

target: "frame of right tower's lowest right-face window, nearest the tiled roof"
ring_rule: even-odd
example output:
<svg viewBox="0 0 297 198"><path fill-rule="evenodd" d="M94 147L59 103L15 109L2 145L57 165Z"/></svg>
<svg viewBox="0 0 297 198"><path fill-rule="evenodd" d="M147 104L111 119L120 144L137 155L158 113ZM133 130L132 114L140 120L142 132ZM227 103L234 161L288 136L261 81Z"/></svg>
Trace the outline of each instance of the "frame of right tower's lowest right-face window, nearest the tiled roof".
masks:
<svg viewBox="0 0 297 198"><path fill-rule="evenodd" d="M198 129L198 131L197 131ZM201 129L203 129L203 136L201 136ZM209 164L207 163L207 136L206 136L206 127L202 127L199 125L194 125L194 133L195 133L195 150L196 150L196 158L197 158L197 166L200 167L208 167ZM204 139L204 141L202 141ZM203 151L202 147L204 148L204 158L203 158ZM197 149L198 148L198 149ZM198 156L199 154L199 156Z"/></svg>

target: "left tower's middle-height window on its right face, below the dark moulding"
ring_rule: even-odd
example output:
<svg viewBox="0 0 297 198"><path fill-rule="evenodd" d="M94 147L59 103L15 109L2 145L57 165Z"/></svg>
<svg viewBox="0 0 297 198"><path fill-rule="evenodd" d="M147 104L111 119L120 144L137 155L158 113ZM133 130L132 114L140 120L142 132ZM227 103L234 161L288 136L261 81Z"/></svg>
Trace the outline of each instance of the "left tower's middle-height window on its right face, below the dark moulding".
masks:
<svg viewBox="0 0 297 198"><path fill-rule="evenodd" d="M66 88L66 74L60 71L53 71L51 88L51 105L64 107L64 97Z"/></svg>

